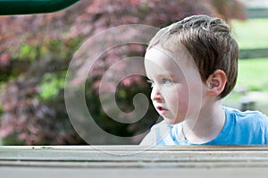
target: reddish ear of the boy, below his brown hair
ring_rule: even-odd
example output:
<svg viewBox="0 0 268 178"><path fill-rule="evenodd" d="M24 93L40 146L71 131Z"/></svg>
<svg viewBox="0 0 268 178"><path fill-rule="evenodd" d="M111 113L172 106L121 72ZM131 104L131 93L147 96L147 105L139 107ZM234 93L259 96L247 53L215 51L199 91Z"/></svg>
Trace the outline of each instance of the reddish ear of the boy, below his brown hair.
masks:
<svg viewBox="0 0 268 178"><path fill-rule="evenodd" d="M210 96L217 97L219 96L227 81L226 73L222 70L216 70L211 74L206 80L207 92Z"/></svg>

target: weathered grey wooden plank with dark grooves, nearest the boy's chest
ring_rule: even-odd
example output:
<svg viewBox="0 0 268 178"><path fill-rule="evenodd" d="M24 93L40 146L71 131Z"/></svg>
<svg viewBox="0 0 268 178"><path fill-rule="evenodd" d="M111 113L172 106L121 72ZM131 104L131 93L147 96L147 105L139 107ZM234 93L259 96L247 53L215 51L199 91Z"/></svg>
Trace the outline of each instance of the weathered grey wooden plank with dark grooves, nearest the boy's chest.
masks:
<svg viewBox="0 0 268 178"><path fill-rule="evenodd" d="M267 166L267 147L2 147L0 165L106 167Z"/></svg>

